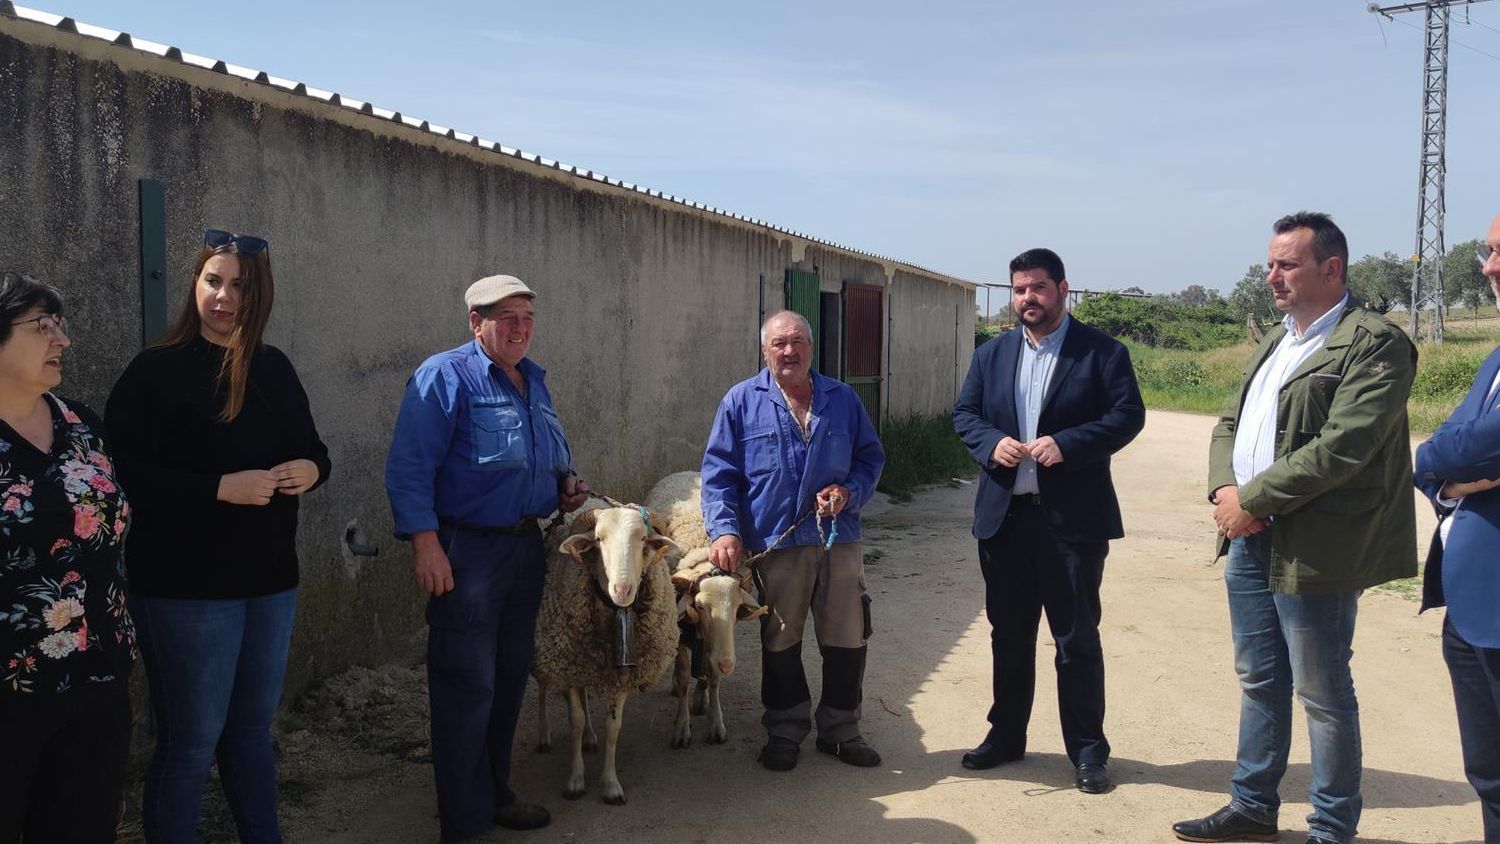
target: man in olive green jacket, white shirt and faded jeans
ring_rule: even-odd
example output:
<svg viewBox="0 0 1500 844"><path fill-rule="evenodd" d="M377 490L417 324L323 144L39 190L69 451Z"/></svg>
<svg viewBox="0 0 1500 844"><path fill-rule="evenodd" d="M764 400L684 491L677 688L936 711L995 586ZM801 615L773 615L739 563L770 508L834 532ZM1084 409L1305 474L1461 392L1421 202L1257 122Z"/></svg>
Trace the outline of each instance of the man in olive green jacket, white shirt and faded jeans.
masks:
<svg viewBox="0 0 1500 844"><path fill-rule="evenodd" d="M1228 552L1239 751L1230 802L1173 826L1184 841L1274 841L1292 693L1312 754L1308 844L1359 826L1359 703L1348 670L1364 589L1416 574L1406 403L1416 348L1344 286L1348 244L1328 214L1272 226L1268 283L1282 324L1214 429L1209 501Z"/></svg>

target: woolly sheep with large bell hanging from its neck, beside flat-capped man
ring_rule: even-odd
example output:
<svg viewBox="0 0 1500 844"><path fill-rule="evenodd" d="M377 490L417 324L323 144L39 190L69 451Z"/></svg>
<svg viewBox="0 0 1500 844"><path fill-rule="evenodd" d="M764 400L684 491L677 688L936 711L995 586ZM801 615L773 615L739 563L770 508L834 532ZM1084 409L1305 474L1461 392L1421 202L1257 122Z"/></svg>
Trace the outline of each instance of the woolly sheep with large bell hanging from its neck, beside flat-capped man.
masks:
<svg viewBox="0 0 1500 844"><path fill-rule="evenodd" d="M676 595L666 559L675 549L646 525L640 510L612 507L574 519L548 555L531 673L542 685L543 703L548 688L567 690L573 765L564 798L578 799L585 792L585 693L591 693L609 702L600 792L606 804L626 802L615 774L626 700L656 684L676 652ZM636 664L627 669L616 667L616 607L630 609L634 631Z"/></svg>

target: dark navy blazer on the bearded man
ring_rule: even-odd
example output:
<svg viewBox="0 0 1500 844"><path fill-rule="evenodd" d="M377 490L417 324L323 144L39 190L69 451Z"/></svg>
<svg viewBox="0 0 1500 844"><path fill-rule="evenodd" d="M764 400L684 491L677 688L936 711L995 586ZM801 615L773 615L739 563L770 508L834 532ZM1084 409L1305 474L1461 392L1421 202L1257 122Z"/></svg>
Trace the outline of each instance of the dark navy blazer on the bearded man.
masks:
<svg viewBox="0 0 1500 844"><path fill-rule="evenodd" d="M975 349L952 409L954 429L984 468L974 501L974 535L980 540L999 532L1016 484L1016 469L992 465L990 456L1000 438L1022 438L1016 367L1023 342L1017 327ZM1125 535L1110 454L1144 426L1146 406L1130 352L1114 337L1072 319L1036 423L1036 436L1052 436L1062 451L1062 463L1036 468L1042 510L1058 538L1090 543Z"/></svg>

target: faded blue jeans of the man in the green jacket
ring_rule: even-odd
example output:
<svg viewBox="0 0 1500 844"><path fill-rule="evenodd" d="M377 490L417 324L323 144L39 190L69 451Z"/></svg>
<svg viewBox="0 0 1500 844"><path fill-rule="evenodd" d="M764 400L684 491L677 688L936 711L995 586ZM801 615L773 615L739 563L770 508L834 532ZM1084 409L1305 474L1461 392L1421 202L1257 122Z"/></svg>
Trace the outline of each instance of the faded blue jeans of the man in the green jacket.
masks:
<svg viewBox="0 0 1500 844"><path fill-rule="evenodd" d="M1276 786L1287 772L1296 690L1312 754L1308 834L1353 841L1364 801L1359 702L1348 660L1360 591L1272 592L1269 571L1269 532L1230 544L1224 583L1240 688L1230 805L1260 823L1276 823Z"/></svg>

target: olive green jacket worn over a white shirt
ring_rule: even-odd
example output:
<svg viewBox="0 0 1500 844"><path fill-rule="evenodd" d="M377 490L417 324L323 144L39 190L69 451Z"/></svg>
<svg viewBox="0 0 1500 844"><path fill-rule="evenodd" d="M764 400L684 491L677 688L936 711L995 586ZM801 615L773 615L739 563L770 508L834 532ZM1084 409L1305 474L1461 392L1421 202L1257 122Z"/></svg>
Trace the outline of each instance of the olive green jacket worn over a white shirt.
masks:
<svg viewBox="0 0 1500 844"><path fill-rule="evenodd" d="M1234 427L1251 378L1287 334L1266 334L1209 447L1209 495L1234 486ZM1416 346L1378 313L1350 304L1323 348L1281 387L1276 460L1239 487L1270 520L1270 589L1350 592L1416 574L1416 507L1407 396ZM1220 543L1220 553L1228 543Z"/></svg>

